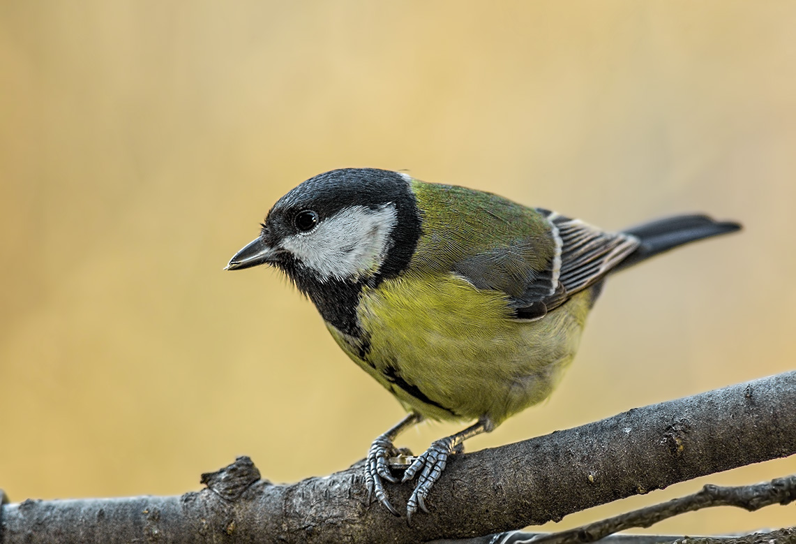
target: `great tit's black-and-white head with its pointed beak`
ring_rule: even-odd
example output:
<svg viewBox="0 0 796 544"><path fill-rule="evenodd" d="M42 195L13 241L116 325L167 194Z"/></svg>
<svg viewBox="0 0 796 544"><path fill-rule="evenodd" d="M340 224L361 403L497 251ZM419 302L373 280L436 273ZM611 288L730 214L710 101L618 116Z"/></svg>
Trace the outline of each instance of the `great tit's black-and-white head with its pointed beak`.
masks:
<svg viewBox="0 0 796 544"><path fill-rule="evenodd" d="M358 283L396 276L412 258L419 213L411 178L370 168L332 170L285 194L259 237L228 270L271 264L302 292L310 284Z"/></svg>

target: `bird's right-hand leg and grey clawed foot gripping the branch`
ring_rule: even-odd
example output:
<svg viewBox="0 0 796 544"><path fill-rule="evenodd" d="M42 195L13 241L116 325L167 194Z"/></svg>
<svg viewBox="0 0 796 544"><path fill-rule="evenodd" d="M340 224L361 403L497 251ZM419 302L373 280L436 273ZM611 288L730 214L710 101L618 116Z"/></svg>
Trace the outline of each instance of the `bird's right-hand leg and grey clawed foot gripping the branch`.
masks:
<svg viewBox="0 0 796 544"><path fill-rule="evenodd" d="M490 432L494 427L495 425L490 418L482 417L477 423L467 429L436 440L422 455L415 459L415 462L406 469L404 479L401 480L403 483L414 478L418 472L420 474L415 491L412 492L412 496L409 497L406 504L407 520L412 519L412 515L416 513L418 508L428 513L425 503L428 491L431 491L431 486L442 475L448 456L460 451L462 442L468 438L482 434L482 432Z"/></svg>

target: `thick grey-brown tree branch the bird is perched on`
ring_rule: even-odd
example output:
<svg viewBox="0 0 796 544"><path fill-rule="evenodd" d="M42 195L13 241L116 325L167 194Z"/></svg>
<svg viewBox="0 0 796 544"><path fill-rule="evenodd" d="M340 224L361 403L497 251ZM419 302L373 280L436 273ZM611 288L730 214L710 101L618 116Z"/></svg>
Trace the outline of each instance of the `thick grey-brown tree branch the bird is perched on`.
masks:
<svg viewBox="0 0 796 544"><path fill-rule="evenodd" d="M0 511L17 542L419 542L497 533L672 483L796 453L796 371L632 409L454 456L412 527L369 504L361 462L290 485L248 458L180 497L25 501ZM410 486L388 485L396 503Z"/></svg>

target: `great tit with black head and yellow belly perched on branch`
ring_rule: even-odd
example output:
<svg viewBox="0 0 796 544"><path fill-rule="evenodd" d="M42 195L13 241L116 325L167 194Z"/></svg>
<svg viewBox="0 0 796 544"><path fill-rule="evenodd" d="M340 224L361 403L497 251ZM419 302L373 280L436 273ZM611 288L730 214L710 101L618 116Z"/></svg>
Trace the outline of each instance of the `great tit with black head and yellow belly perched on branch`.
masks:
<svg viewBox="0 0 796 544"><path fill-rule="evenodd" d="M464 440L552 393L611 272L740 225L681 215L607 233L496 194L373 168L332 170L285 194L227 265L270 264L309 296L339 346L408 411L365 463L395 515L396 436L424 419L475 421L414 458L411 518Z"/></svg>

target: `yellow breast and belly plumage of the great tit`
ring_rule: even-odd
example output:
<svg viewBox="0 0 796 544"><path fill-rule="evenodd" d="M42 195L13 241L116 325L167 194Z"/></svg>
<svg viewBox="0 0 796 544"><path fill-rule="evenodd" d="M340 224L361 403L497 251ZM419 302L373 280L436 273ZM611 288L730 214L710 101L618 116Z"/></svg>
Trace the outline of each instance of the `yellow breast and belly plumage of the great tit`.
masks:
<svg viewBox="0 0 796 544"><path fill-rule="evenodd" d="M488 416L497 425L552 393L590 307L587 290L543 319L519 322L502 293L456 276L402 276L362 293L365 349L330 331L407 409L432 419Z"/></svg>

